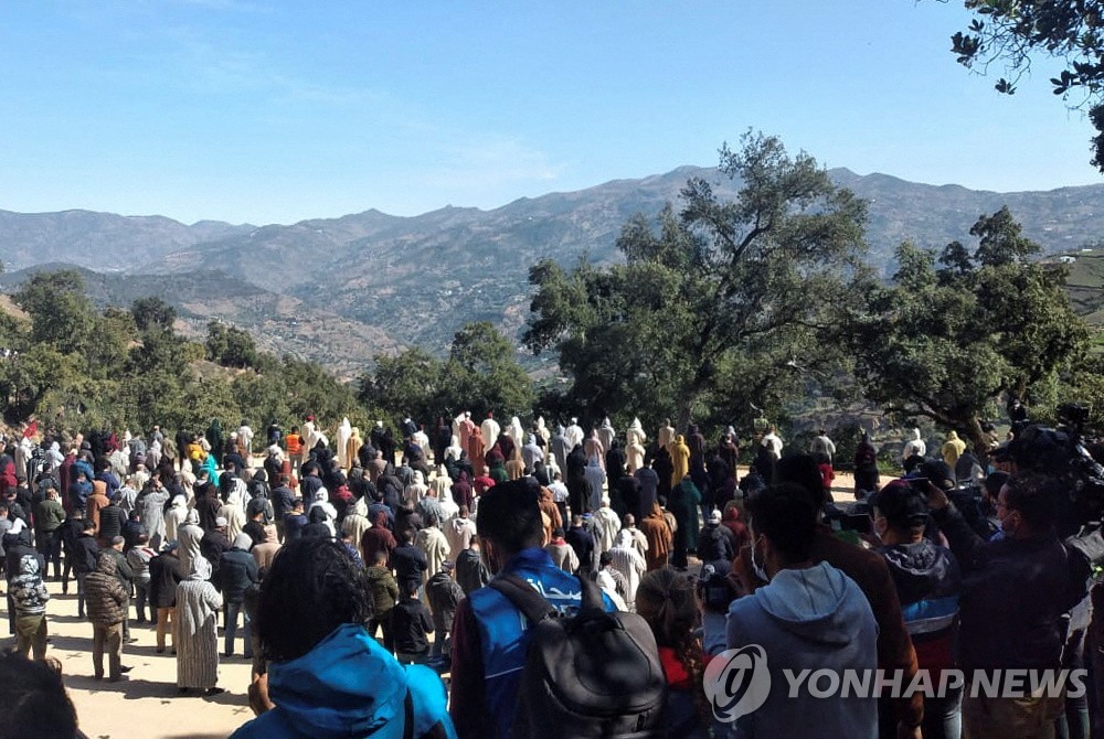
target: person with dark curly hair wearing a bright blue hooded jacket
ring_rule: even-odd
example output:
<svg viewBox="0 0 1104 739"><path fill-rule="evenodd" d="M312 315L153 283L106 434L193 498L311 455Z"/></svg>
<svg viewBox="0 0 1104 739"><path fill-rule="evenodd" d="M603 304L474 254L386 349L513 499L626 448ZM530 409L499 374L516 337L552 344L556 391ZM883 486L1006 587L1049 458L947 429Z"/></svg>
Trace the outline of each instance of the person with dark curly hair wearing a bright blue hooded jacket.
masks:
<svg viewBox="0 0 1104 739"><path fill-rule="evenodd" d="M254 622L268 672L251 701L275 707L232 739L456 737L437 674L403 667L368 633L360 578L339 542L300 538L279 550Z"/></svg>

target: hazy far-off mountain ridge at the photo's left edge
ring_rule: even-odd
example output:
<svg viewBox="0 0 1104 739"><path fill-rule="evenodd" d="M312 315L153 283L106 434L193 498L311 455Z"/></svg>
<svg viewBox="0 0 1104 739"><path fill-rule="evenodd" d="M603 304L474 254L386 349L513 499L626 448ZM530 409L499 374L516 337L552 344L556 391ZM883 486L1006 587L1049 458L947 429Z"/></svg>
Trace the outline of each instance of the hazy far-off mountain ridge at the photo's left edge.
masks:
<svg viewBox="0 0 1104 739"><path fill-rule="evenodd" d="M0 211L0 260L9 270L50 261L95 269L136 269L169 251L252 228L217 221L185 226L159 215Z"/></svg>

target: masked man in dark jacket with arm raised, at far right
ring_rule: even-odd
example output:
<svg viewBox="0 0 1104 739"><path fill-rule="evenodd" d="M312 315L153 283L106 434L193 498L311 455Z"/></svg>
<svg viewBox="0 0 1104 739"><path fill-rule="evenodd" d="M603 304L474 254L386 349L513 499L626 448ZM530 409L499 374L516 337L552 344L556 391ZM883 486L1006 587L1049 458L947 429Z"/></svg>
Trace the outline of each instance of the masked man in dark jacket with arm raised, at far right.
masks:
<svg viewBox="0 0 1104 739"><path fill-rule="evenodd" d="M1062 491L1050 478L1017 472L997 497L1004 536L986 542L946 493L928 486L927 502L963 570L962 652L970 671L1058 670L1062 615L1084 595L1071 592L1068 557L1054 532ZM969 679L967 679L968 684ZM970 737L1049 737L1064 700L1047 696L963 700Z"/></svg>

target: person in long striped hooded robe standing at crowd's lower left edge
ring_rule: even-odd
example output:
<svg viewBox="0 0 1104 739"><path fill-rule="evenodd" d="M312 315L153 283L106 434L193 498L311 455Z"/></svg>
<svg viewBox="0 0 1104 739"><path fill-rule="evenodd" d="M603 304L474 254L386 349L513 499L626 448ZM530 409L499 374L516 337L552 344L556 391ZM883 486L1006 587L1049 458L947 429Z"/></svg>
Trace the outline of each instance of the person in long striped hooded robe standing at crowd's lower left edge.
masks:
<svg viewBox="0 0 1104 739"><path fill-rule="evenodd" d="M222 693L219 682L219 609L222 596L210 582L211 563L192 560L188 579L177 586L177 687L181 693Z"/></svg>

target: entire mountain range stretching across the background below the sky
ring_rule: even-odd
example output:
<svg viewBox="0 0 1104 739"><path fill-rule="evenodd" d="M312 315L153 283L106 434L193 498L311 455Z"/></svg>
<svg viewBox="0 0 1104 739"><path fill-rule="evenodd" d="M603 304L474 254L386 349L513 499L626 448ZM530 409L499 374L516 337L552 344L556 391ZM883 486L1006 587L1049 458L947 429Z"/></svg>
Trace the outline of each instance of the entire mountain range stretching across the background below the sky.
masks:
<svg viewBox="0 0 1104 739"><path fill-rule="evenodd" d="M1104 184L996 193L846 169L830 175L869 202L869 259L882 270L906 238L932 247L954 239L968 245L977 217L1002 205L1048 253L1101 238ZM0 290L11 291L22 270L74 265L93 270L85 278L99 304L157 294L197 331L224 320L248 330L263 347L351 375L402 345L443 352L468 321L490 320L516 333L528 317L533 263L618 259L622 225L667 202L678 207L679 191L693 176L713 183L722 197L739 189L716 169L682 167L489 211L445 207L401 217L369 210L293 225L0 211L0 260L15 270L0 279Z"/></svg>

